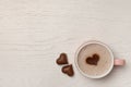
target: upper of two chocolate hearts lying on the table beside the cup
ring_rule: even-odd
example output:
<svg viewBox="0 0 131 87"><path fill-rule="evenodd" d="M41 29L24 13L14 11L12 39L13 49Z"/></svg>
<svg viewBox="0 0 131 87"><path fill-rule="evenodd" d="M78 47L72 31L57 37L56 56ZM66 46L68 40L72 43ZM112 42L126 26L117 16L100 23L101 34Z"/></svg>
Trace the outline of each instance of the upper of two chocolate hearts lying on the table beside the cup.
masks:
<svg viewBox="0 0 131 87"><path fill-rule="evenodd" d="M57 64L62 65L62 64L68 64L68 57L66 53L61 53L60 57L57 59Z"/></svg>

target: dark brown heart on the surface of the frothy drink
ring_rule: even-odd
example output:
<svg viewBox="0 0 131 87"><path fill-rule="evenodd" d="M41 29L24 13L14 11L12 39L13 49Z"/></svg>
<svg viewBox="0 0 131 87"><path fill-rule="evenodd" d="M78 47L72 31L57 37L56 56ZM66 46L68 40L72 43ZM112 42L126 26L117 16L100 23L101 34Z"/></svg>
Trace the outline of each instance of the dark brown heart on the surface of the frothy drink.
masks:
<svg viewBox="0 0 131 87"><path fill-rule="evenodd" d="M97 65L99 61L99 55L97 53L94 53L93 57L86 58L86 63L91 65Z"/></svg>

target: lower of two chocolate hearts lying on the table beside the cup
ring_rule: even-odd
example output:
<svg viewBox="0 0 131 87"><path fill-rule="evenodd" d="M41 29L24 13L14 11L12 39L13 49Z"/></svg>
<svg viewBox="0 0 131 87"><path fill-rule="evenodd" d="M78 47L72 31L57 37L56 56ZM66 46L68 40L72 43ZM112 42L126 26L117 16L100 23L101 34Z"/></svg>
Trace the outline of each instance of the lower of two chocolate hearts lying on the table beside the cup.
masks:
<svg viewBox="0 0 131 87"><path fill-rule="evenodd" d="M69 76L73 76L74 75L74 71L73 71L72 64L63 66L61 71L62 71L62 73L64 73L64 74L67 74Z"/></svg>

